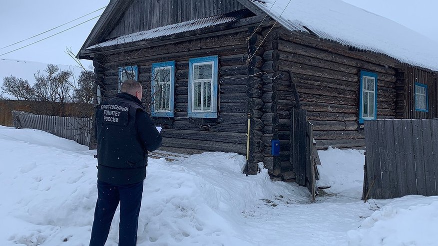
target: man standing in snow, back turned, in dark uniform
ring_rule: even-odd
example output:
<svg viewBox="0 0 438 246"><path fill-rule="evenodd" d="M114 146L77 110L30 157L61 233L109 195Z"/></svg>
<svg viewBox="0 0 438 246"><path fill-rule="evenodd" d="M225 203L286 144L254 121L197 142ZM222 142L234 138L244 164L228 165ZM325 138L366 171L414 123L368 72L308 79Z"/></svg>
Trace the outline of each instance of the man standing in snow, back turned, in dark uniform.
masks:
<svg viewBox="0 0 438 246"><path fill-rule="evenodd" d="M140 83L127 80L120 91L96 111L98 198L90 246L105 245L119 202L119 246L137 244L147 152L161 146L161 135L141 106Z"/></svg>

